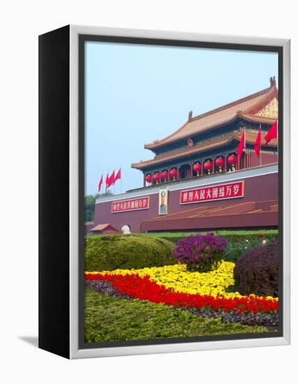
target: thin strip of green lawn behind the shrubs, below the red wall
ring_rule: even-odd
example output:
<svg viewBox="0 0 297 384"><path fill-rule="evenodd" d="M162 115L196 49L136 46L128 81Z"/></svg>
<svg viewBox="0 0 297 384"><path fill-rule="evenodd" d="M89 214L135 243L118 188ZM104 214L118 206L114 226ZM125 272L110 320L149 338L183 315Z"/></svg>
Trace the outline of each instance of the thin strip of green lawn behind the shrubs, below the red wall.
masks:
<svg viewBox="0 0 297 384"><path fill-rule="evenodd" d="M210 232L210 231L208 231ZM234 235L234 236L246 236L246 235L277 235L277 229L271 230L214 230L213 232L218 233L222 236L226 235ZM134 235L142 235L142 236L158 236L158 237L187 237L197 232L150 232L150 233L134 233ZM199 232L199 233L207 233L207 232ZM86 235L86 238L93 239L96 237L100 237L102 235Z"/></svg>

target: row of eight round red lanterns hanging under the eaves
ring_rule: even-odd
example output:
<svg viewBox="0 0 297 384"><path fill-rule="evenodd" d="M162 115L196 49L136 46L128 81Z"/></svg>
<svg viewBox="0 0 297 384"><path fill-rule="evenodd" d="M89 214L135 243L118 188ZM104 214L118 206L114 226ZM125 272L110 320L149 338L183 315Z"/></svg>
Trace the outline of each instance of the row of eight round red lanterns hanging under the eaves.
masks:
<svg viewBox="0 0 297 384"><path fill-rule="evenodd" d="M228 156L228 163L232 165L232 170L235 169L234 165L236 164L236 162L237 162L237 156L235 154L231 154L230 156ZM224 158L222 156L216 158L215 165L217 165L217 167L219 168L219 171L222 172L222 167L224 166ZM206 160L204 162L204 168L208 171L208 174L211 173L211 169L213 168L213 161L211 161L211 159ZM193 165L193 170L197 172L198 176L201 173L201 169L202 169L202 166L199 161ZM177 177L177 169L172 168L171 170L169 170L169 173L167 170L163 170L161 174L159 172L155 172L153 174L153 177L149 173L148 175L146 175L145 180L146 182L151 183L153 179L156 183L158 183L160 182L160 177L162 180L166 181L168 179L168 175L175 180Z"/></svg>

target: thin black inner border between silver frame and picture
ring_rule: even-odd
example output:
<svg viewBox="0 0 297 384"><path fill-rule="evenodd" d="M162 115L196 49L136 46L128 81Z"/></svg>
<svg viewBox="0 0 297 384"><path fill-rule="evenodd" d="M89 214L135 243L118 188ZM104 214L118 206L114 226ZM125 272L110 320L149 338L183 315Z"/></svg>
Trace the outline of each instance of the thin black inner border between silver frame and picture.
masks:
<svg viewBox="0 0 297 384"><path fill-rule="evenodd" d="M210 48L220 50L244 50L253 52L276 52L278 54L278 233L279 233L279 325L277 332L257 334L230 334L199 337L180 337L171 339L144 339L131 341L103 341L100 343L86 343L84 341L84 117L85 117L85 43L93 41L100 43L126 43L137 45L160 45L175 47ZM273 74L272 74L273 75ZM283 308L283 47L277 45L253 45L238 43L213 43L192 40L171 40L162 38L136 38L123 36L100 36L79 34L79 349L112 348L119 346L148 346L160 344L180 344L199 341L228 341L243 339L261 339L283 337L284 308Z"/></svg>

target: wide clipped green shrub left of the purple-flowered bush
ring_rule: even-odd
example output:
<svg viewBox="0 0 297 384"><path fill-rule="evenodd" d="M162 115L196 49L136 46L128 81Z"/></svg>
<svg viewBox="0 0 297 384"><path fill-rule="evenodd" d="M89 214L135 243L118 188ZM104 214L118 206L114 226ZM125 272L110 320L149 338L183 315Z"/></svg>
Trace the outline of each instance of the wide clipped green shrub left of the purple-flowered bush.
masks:
<svg viewBox="0 0 297 384"><path fill-rule="evenodd" d="M139 269L176 264L174 244L165 239L142 235L105 235L86 239L86 271Z"/></svg>

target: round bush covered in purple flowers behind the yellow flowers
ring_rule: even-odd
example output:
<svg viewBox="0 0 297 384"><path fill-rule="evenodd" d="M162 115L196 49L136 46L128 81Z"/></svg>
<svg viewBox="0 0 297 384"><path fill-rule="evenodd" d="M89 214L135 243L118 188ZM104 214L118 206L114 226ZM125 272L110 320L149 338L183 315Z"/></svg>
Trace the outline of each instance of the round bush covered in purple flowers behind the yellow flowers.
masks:
<svg viewBox="0 0 297 384"><path fill-rule="evenodd" d="M174 250L174 257L187 265L189 271L208 272L219 267L224 258L227 241L220 235L190 235L181 239Z"/></svg>

